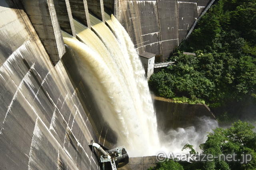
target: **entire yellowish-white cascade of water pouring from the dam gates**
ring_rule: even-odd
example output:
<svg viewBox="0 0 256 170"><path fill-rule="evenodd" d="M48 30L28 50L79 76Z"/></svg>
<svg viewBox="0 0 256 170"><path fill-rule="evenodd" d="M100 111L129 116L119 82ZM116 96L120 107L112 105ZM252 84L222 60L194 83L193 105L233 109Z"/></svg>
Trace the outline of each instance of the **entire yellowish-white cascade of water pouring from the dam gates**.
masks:
<svg viewBox="0 0 256 170"><path fill-rule="evenodd" d="M80 41L64 37L78 74L116 132L117 145L124 144L131 156L154 155L159 147L156 116L134 45L114 16L108 20L114 34L103 22L90 18L93 31L74 20Z"/></svg>

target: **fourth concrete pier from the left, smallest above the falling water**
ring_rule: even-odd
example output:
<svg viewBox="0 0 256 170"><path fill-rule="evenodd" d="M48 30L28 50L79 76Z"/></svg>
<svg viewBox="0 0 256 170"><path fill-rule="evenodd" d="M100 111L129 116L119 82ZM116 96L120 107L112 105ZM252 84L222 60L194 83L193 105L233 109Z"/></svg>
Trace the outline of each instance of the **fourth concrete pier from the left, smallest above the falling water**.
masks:
<svg viewBox="0 0 256 170"><path fill-rule="evenodd" d="M88 10L105 23L103 0L87 0Z"/></svg>

